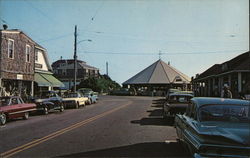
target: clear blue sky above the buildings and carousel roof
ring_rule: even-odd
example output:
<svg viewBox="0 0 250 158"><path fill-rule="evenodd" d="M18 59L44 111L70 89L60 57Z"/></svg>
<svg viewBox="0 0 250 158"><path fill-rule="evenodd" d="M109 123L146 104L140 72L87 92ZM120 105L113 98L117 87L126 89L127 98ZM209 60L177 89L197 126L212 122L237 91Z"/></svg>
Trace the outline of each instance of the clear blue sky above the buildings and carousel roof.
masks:
<svg viewBox="0 0 250 158"><path fill-rule="evenodd" d="M120 84L159 58L191 77L249 51L248 0L0 0L0 18L51 64L73 58L77 25L78 59Z"/></svg>

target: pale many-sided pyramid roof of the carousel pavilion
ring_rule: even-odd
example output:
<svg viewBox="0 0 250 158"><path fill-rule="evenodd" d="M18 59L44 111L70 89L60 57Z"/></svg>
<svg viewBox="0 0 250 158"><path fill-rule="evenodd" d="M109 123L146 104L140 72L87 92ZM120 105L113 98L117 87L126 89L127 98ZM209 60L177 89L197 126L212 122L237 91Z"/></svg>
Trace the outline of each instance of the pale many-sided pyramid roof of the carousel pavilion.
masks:
<svg viewBox="0 0 250 158"><path fill-rule="evenodd" d="M146 69L125 81L123 85L183 84L189 83L190 81L191 79L187 75L159 59Z"/></svg>

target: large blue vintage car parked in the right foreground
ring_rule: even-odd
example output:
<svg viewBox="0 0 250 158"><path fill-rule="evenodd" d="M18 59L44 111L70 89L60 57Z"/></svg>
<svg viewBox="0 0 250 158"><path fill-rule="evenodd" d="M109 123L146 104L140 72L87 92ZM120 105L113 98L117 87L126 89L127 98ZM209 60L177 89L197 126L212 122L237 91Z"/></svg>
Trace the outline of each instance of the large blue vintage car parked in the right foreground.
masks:
<svg viewBox="0 0 250 158"><path fill-rule="evenodd" d="M194 157L250 156L250 101L193 98L175 127Z"/></svg>

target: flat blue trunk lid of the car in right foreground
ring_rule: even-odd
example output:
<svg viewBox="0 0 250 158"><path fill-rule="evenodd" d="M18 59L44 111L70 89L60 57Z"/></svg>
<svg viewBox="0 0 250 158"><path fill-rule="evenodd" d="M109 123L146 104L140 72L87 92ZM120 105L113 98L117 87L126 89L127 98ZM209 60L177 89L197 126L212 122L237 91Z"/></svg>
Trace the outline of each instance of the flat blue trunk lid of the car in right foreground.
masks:
<svg viewBox="0 0 250 158"><path fill-rule="evenodd" d="M249 123L206 122L200 124L199 131L200 134L226 138L235 143L250 146Z"/></svg>

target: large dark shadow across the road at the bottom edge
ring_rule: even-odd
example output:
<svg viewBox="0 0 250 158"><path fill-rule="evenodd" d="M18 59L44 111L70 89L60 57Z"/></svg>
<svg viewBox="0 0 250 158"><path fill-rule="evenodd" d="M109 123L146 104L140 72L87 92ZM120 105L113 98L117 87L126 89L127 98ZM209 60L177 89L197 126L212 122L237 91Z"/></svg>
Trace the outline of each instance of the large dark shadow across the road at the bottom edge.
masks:
<svg viewBox="0 0 250 158"><path fill-rule="evenodd" d="M188 157L188 153L177 142L139 143L95 151L74 153L58 157Z"/></svg>

